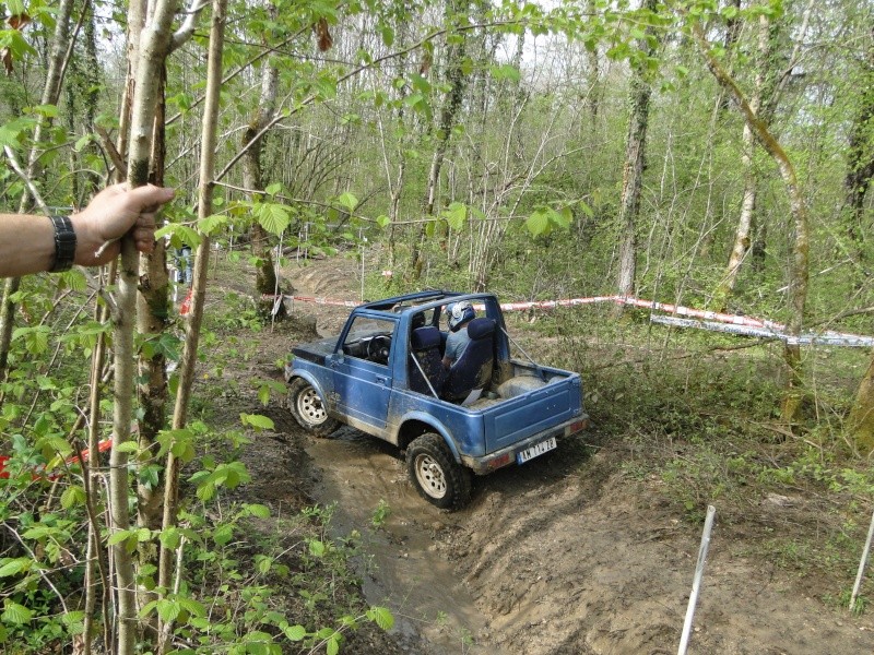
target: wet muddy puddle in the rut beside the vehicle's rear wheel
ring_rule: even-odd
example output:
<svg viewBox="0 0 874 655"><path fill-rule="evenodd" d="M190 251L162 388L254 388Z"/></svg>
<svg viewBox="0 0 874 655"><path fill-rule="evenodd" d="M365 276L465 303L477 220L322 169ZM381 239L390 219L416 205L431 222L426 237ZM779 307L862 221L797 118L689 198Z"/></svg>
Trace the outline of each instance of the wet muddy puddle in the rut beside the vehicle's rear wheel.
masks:
<svg viewBox="0 0 874 655"><path fill-rule="evenodd" d="M362 533L358 573L367 602L392 610L400 642L411 653L482 653L473 645L484 619L453 564L438 550L464 514L448 514L422 500L399 452L352 428L310 440L307 453L320 476L319 503L338 502L339 535Z"/></svg>

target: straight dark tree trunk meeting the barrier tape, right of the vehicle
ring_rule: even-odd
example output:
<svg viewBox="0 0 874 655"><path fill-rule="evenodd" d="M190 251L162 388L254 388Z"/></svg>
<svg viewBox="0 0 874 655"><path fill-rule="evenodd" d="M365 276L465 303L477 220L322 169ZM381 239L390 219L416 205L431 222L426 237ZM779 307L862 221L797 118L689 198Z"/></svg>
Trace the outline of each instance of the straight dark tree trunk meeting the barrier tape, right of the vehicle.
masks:
<svg viewBox="0 0 874 655"><path fill-rule="evenodd" d="M647 0L646 8L656 11L656 0ZM652 35L651 28L647 29ZM651 57L653 48L646 38L639 39L638 49ZM622 175L622 200L619 202L619 269L616 276L616 290L619 296L635 295L637 263L637 216L640 213L640 191L643 187L646 168L647 123L649 121L649 100L652 90L647 80L646 68L634 66L631 73L631 116L628 120L628 139L625 146L625 165Z"/></svg>

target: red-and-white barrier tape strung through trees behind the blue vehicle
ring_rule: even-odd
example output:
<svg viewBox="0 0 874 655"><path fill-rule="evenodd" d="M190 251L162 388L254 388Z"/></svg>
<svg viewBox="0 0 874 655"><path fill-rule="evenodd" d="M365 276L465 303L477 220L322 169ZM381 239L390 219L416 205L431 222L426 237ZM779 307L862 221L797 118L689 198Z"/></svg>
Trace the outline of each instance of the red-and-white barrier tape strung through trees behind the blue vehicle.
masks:
<svg viewBox="0 0 874 655"><path fill-rule="evenodd" d="M338 300L318 296L282 296L285 299L298 302L315 302L316 305L330 305L334 307L358 307L363 302L355 300ZM273 300L275 296L265 294L264 299ZM822 345L822 346L850 346L850 347L871 347L874 346L874 337L861 336L858 334L845 334L841 332L823 332L822 334L805 333L793 337L784 334L786 325L766 319L754 317L742 317L739 314L727 314L718 311L693 309L682 305L670 302L657 302L654 300L643 300L640 298L629 298L627 296L592 296L590 298L567 298L563 300L532 300L527 302L501 302L500 309L504 311L524 311L530 309L555 309L556 307L577 307L580 305L595 305L599 302L614 302L616 305L628 305L640 309L663 311L665 313L677 314L680 317L693 317L693 319L681 319L674 317L651 315L650 320L656 323L676 325L678 327L697 327L699 330L710 330L713 332L725 332L729 334L742 334L747 336L758 336L761 338L779 338L790 344L799 345ZM477 309L483 306L476 306ZM702 321L695 319L704 319ZM713 322L716 321L716 322Z"/></svg>

